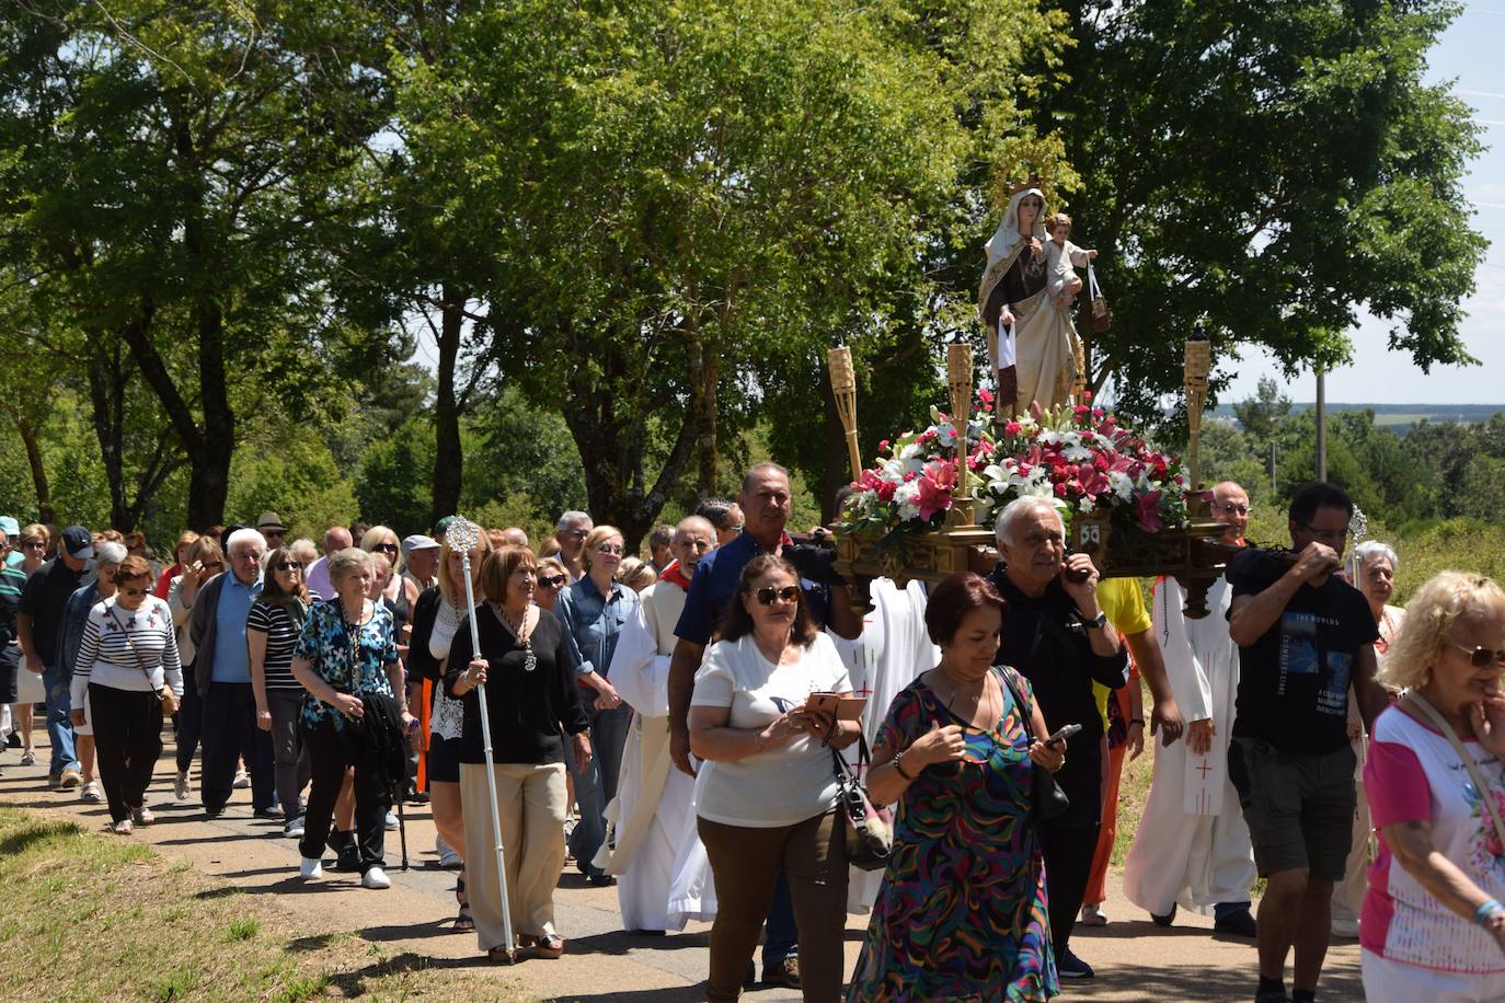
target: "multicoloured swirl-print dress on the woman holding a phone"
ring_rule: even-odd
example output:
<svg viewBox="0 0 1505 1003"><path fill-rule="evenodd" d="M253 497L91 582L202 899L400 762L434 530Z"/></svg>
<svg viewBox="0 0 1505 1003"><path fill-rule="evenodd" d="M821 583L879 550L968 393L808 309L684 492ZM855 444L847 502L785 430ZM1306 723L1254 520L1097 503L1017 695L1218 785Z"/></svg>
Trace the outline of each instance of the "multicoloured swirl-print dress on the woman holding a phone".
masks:
<svg viewBox="0 0 1505 1003"><path fill-rule="evenodd" d="M1032 701L1029 683L1013 683ZM1032 762L1022 711L999 686L992 731L954 717L921 680L888 708L877 740L906 749L932 723L960 725L968 758L926 768L906 789L894 856L873 904L847 1000L1047 1000L1044 859L1029 818Z"/></svg>

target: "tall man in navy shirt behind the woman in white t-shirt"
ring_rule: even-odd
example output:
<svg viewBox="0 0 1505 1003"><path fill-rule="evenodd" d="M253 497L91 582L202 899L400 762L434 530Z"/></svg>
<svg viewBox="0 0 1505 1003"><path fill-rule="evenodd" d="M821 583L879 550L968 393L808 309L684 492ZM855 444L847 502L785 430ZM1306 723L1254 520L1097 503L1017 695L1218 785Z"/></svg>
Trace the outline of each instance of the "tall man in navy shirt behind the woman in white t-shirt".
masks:
<svg viewBox="0 0 1505 1003"><path fill-rule="evenodd" d="M742 478L737 507L742 510L742 532L701 559L685 597L685 612L674 627L677 641L668 672L670 758L686 776L695 774L689 758L689 698L695 687L695 671L706 654L718 624L725 617L737 591L737 580L748 561L760 553L793 550L793 540L784 531L790 510L789 471L774 462L752 465ZM822 585L801 579L807 608L822 627L852 641L862 633L862 621L852 609L852 594L844 582ZM763 941L763 980L775 985L799 985L798 934L789 884L780 875L769 911L768 935Z"/></svg>

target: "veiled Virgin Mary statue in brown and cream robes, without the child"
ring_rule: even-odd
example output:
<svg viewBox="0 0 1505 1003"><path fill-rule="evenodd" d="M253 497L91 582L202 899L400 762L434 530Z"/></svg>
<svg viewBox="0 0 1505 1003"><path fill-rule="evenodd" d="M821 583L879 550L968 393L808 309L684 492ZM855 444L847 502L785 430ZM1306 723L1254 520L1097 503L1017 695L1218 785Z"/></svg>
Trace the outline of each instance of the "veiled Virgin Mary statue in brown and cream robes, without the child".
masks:
<svg viewBox="0 0 1505 1003"><path fill-rule="evenodd" d="M1064 405L1078 365L1070 311L1046 290L1044 192L1032 180L1014 191L1008 214L987 242L987 271L977 295L989 344L999 346L993 365L1017 367L1013 414L1026 412L1031 402L1046 411ZM1001 392L1007 382L1001 376ZM999 400L999 408L1007 405Z"/></svg>

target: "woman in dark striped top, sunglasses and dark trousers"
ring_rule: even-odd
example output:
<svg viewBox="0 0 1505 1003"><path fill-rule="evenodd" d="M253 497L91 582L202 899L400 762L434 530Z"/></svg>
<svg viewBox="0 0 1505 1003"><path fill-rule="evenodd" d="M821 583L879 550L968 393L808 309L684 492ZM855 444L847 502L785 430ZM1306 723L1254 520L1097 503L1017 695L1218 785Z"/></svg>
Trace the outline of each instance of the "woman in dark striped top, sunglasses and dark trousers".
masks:
<svg viewBox="0 0 1505 1003"><path fill-rule="evenodd" d="M303 561L287 547L277 547L266 558L262 592L245 617L245 647L251 656L256 726L272 735L277 803L289 839L303 836L303 788L309 785L309 756L298 735L306 690L292 678L292 648L307 615Z"/></svg>

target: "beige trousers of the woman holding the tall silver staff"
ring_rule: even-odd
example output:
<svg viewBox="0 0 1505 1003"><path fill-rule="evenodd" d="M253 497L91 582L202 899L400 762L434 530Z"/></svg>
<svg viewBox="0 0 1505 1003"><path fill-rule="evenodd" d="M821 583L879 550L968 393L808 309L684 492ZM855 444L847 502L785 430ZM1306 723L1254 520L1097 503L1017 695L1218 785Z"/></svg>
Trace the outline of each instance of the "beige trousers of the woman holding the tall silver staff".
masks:
<svg viewBox="0 0 1505 1003"><path fill-rule="evenodd" d="M512 932L552 935L554 886L564 866L564 764L498 762L495 776ZM465 817L465 890L476 917L476 941L482 950L491 950L501 947L506 935L485 765L461 764L461 805Z"/></svg>

